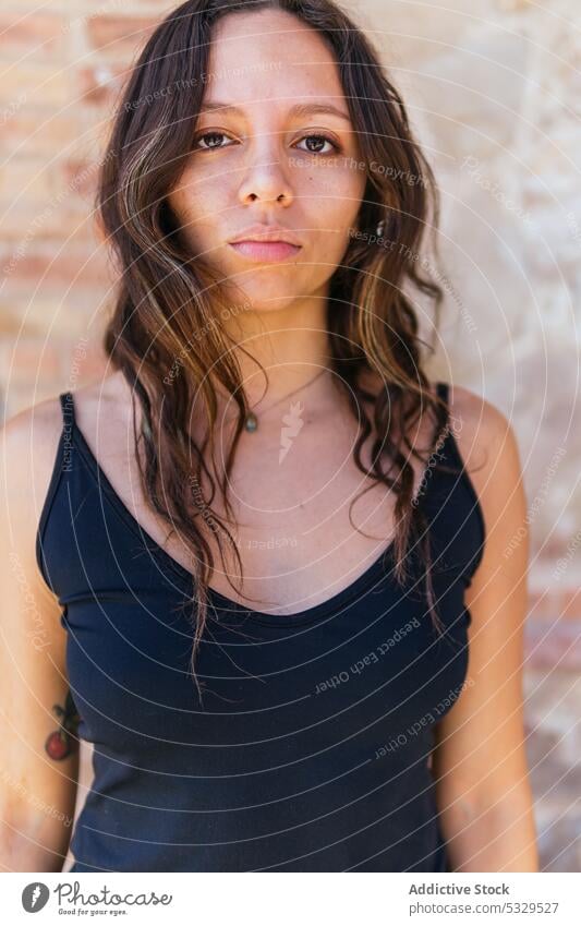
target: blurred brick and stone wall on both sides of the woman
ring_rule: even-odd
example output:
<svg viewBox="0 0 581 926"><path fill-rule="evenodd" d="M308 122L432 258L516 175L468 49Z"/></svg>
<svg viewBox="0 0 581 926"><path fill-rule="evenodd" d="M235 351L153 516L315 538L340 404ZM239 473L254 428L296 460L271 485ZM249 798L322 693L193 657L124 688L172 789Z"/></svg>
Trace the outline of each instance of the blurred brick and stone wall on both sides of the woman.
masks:
<svg viewBox="0 0 581 926"><path fill-rule="evenodd" d="M112 270L92 216L112 107L178 4L2 0L2 420L106 372ZM542 866L581 870L579 0L359 0L441 195L428 372L519 437L531 533L525 717ZM433 317L422 316L432 336ZM83 756L82 786L89 781ZM83 784L84 782L84 784ZM78 804L77 804L78 809ZM68 867L68 866L65 866Z"/></svg>

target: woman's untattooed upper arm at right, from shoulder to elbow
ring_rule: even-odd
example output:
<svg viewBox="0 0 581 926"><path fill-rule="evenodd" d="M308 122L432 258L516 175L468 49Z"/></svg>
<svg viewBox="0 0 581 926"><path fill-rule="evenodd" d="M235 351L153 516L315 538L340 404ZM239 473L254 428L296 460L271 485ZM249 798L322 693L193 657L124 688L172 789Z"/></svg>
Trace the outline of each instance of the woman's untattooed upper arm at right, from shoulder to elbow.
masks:
<svg viewBox="0 0 581 926"><path fill-rule="evenodd" d="M455 393L458 445L486 538L465 591L472 617L468 684L436 727L433 770L444 813L518 801L529 789L522 711L529 533L519 449L496 408L459 387Z"/></svg>

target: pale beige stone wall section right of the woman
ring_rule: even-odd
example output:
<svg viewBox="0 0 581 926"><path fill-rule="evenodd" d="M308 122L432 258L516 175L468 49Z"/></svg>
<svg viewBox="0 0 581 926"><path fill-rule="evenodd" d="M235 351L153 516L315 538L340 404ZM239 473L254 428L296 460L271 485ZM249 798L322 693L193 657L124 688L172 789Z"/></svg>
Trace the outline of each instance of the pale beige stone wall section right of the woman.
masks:
<svg viewBox="0 0 581 926"><path fill-rule="evenodd" d="M540 844L545 866L579 871L581 7L348 7L376 31L441 190L449 285L435 369L498 405L519 437Z"/></svg>

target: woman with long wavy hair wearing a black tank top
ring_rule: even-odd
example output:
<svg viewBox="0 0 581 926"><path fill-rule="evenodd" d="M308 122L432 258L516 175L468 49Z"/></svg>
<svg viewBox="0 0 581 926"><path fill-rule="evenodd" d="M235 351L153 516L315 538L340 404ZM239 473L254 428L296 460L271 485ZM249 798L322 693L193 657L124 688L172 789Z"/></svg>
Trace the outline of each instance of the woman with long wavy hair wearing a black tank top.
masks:
<svg viewBox="0 0 581 926"><path fill-rule="evenodd" d="M72 871L536 870L516 440L424 373L437 195L367 39L182 4L98 208L113 369L4 433L4 866L62 865L29 794L70 823L84 738Z"/></svg>

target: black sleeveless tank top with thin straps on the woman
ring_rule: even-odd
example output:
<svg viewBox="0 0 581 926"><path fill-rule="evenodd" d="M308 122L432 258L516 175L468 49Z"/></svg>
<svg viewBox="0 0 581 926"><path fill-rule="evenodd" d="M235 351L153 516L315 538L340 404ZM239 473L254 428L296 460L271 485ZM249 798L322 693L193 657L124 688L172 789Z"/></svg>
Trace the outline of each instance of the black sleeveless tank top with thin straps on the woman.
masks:
<svg viewBox="0 0 581 926"><path fill-rule="evenodd" d="M60 399L36 555L62 606L78 736L94 744L71 871L450 870L429 756L467 682L464 590L484 549L451 428L437 459L453 474L426 469L416 495L444 633L421 563L400 588L391 546L292 615L210 589L201 701L192 576L113 490L72 394Z"/></svg>

